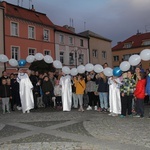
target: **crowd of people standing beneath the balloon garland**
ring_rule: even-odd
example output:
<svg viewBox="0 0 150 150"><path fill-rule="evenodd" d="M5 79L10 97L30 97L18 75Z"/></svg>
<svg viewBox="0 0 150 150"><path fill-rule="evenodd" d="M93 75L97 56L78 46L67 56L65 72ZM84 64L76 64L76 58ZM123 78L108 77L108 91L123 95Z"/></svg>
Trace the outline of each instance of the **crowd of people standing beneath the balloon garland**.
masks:
<svg viewBox="0 0 150 150"><path fill-rule="evenodd" d="M147 70L148 71L148 70ZM31 109L52 107L57 110L80 112L97 110L121 118L126 115L144 117L144 99L150 95L150 73L140 67L122 76L107 77L94 71L65 75L60 72L19 70L18 74L0 78L0 99L3 114L15 108L29 113Z"/></svg>

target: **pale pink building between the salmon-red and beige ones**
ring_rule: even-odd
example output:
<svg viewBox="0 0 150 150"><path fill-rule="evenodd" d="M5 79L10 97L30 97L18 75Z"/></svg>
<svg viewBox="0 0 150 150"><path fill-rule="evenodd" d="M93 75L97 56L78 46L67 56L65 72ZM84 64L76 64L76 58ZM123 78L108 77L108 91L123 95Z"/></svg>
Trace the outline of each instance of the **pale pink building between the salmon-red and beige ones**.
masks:
<svg viewBox="0 0 150 150"><path fill-rule="evenodd" d="M73 31L68 26L55 26L56 59L70 68L89 62L88 38Z"/></svg>

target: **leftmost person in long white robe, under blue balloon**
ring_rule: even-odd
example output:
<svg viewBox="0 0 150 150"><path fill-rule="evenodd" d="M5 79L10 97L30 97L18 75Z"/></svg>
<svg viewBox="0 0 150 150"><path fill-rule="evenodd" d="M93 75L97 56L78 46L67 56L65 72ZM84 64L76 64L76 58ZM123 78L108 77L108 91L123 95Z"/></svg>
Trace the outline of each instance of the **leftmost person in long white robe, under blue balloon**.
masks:
<svg viewBox="0 0 150 150"><path fill-rule="evenodd" d="M32 88L33 85L29 79L27 73L24 73L22 70L19 71L17 81L19 82L19 94L22 105L22 112L29 113L31 109L34 108L34 99Z"/></svg>

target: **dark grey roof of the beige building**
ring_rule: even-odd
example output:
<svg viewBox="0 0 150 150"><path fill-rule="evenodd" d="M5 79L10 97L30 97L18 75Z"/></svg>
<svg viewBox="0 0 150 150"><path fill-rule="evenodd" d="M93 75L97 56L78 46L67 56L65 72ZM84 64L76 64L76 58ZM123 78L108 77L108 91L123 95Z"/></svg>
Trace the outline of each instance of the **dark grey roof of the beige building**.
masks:
<svg viewBox="0 0 150 150"><path fill-rule="evenodd" d="M96 38L99 38L99 39L102 39L102 40L111 42L110 39L107 39L107 38L105 38L105 37L103 37L103 36L101 36L101 35L98 35L98 34L92 32L92 31L90 31L90 30L81 32L81 33L79 33L79 34L80 34L80 35L83 35L83 36L86 36L86 37L91 36L91 37L96 37Z"/></svg>

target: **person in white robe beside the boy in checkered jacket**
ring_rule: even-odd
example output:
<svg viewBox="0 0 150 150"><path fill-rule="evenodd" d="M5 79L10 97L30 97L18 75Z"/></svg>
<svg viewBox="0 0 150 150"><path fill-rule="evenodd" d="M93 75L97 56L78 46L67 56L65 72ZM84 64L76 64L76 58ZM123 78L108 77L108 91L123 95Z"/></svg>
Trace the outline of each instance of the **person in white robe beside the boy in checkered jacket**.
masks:
<svg viewBox="0 0 150 150"><path fill-rule="evenodd" d="M109 106L110 106L109 115L118 116L118 114L121 114L120 78L114 76L110 77L108 79L108 84L109 84Z"/></svg>

